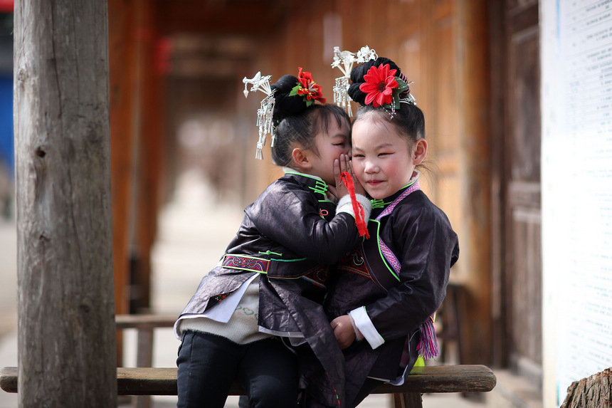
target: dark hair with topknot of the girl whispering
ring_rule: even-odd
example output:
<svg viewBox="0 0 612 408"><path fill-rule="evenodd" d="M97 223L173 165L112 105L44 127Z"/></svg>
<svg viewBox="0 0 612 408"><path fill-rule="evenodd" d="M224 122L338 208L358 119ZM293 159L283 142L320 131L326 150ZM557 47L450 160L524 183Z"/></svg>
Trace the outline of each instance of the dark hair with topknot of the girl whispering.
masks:
<svg viewBox="0 0 612 408"><path fill-rule="evenodd" d="M302 95L289 96L297 84L293 75L284 75L270 88L275 90L273 120L276 125L276 139L272 148L272 162L277 166L290 166L295 145L304 150L315 149L315 136L327 132L329 121L335 119L338 126L349 126L346 112L336 105L306 106Z"/></svg>

